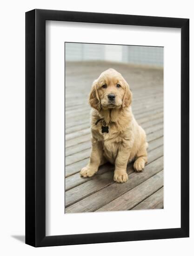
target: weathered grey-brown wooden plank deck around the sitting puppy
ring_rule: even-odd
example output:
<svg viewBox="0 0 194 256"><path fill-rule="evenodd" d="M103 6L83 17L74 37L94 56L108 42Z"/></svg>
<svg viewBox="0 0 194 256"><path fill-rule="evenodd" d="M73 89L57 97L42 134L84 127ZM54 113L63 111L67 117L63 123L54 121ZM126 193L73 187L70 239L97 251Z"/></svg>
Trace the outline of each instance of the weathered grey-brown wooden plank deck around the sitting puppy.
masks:
<svg viewBox="0 0 194 256"><path fill-rule="evenodd" d="M91 178L80 177L91 150L92 82L112 67L133 92L132 109L147 133L148 163L142 172L127 166L128 181L113 181L114 166L105 164ZM111 62L69 62L66 66L65 213L163 208L163 69Z"/></svg>

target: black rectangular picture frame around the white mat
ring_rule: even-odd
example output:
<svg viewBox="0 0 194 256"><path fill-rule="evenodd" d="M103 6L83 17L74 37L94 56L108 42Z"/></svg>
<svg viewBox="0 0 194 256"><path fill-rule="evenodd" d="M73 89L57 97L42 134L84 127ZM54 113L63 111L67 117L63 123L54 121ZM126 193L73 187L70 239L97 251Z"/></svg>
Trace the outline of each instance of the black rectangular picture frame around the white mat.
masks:
<svg viewBox="0 0 194 256"><path fill-rule="evenodd" d="M181 28L181 228L46 236L46 20ZM34 9L26 13L26 243L34 247L189 236L189 19Z"/></svg>

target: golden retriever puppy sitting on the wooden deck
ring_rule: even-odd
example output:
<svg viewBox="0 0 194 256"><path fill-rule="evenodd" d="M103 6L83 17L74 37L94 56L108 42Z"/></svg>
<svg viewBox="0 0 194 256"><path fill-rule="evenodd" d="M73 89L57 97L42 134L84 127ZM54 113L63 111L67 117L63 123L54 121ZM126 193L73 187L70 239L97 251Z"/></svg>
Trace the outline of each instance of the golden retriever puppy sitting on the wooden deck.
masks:
<svg viewBox="0 0 194 256"><path fill-rule="evenodd" d="M147 163L146 133L134 118L129 85L116 70L100 74L92 85L89 104L92 109L92 151L89 163L80 175L91 177L100 165L115 165L114 181L126 182L127 163L134 161L135 171Z"/></svg>

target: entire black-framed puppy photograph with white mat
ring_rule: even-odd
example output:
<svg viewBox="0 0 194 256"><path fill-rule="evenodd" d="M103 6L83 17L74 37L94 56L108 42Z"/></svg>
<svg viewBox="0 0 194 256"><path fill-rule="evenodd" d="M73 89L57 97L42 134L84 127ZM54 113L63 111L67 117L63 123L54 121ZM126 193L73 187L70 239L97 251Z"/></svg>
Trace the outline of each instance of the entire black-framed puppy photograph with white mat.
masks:
<svg viewBox="0 0 194 256"><path fill-rule="evenodd" d="M26 243L189 236L189 20L26 13Z"/></svg>

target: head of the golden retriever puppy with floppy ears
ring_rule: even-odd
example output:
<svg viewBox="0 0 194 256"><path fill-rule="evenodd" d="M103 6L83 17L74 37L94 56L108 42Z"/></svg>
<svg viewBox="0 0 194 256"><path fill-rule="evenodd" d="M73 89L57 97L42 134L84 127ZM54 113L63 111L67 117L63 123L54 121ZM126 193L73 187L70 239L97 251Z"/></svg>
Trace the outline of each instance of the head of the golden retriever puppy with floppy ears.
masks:
<svg viewBox="0 0 194 256"><path fill-rule="evenodd" d="M91 107L100 109L125 108L131 104L132 94L125 79L110 68L93 83L89 96Z"/></svg>

